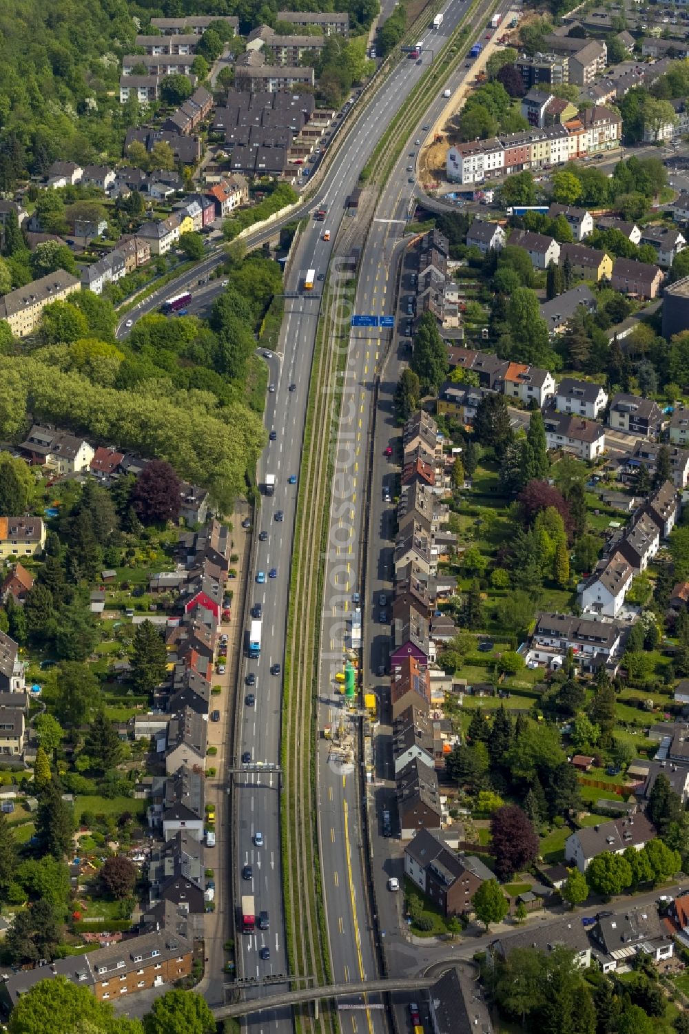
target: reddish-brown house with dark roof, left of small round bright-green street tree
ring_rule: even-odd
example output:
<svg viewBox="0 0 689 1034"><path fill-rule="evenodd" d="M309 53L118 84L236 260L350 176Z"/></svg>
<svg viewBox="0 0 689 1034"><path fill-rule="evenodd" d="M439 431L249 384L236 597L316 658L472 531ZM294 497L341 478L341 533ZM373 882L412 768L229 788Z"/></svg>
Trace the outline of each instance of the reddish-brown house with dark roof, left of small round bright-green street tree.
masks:
<svg viewBox="0 0 689 1034"><path fill-rule="evenodd" d="M405 875L446 918L473 912L472 898L493 874L479 858L457 856L428 827L405 845Z"/></svg>

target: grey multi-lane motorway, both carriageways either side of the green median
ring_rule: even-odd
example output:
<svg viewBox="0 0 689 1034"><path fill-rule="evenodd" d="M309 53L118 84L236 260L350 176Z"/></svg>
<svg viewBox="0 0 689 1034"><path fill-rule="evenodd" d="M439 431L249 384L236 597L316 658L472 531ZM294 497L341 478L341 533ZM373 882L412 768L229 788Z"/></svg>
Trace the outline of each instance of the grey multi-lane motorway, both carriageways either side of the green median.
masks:
<svg viewBox="0 0 689 1034"><path fill-rule="evenodd" d="M414 60L406 60L398 63L340 144L324 185L313 200L313 208L327 205L327 219L325 222L312 221L301 234L284 284L286 294L296 294L297 297L286 298L279 344L275 355L268 360L274 391L268 394L265 423L268 431L274 430L275 436L261 456L258 469L260 484L265 483L267 475L274 475L275 492L272 496L262 496L249 576L248 603L260 603L263 611L262 648L260 659L242 659L238 699L238 706L241 707L239 737L236 756L229 759L235 770L233 785L237 816L234 899L239 903L242 894L253 893L257 914L267 911L270 916L268 931L257 929L251 936L238 935L238 970L244 977L260 979L271 973L284 973L288 969L281 896L279 784L276 772L269 766L279 762L281 668L290 558L309 374L320 313L321 283L316 283L312 293L304 293L303 278L307 269L327 273L337 231L342 219L349 218L346 215L347 199L357 184L361 169L412 88L426 71L431 59L429 52L437 54L440 51L465 17L468 6L469 0L451 0L440 31L426 34L423 62L417 64ZM483 0L480 7L487 11L488 0ZM442 88L454 89L460 75L461 72L454 73ZM445 103L439 95L424 116L424 121L432 124ZM410 126L410 142L415 152L418 152L418 145L414 144L417 131L416 127ZM359 273L358 309L362 312L393 312L395 291L390 277L394 267L394 249L405 231L413 192L413 183L409 182L411 177L407 171L410 163L408 150L411 149L406 149L396 163L368 234ZM326 229L330 231L330 241L323 239ZM200 277L207 275L219 261L219 255L209 256L189 274L190 284L196 284ZM185 285L184 282L177 282L174 288L177 292ZM156 308L161 298L170 296L172 286L152 296L127 318L136 320ZM218 281L194 290L194 307L199 310L206 308L219 290L221 285ZM123 336L126 331L123 320L118 334ZM376 365L386 344L383 338L353 334L347 372L342 378L343 404L330 522L332 548L326 560L328 587L324 600L319 688L320 699L324 701L319 714L321 725L330 724L339 711L342 699L337 695L334 682L335 670L341 668L347 639L344 630L349 615L344 609L347 603L342 601L357 587L360 543L365 541L361 504L367 463L366 432ZM294 386L292 391L290 386ZM296 484L290 484L291 476L297 478ZM378 486L373 490L378 490ZM262 531L266 535L259 539ZM272 578L271 569L275 569L275 577ZM265 581L263 578L258 580L260 573L265 576ZM337 599L333 603L334 598ZM363 605L368 607L369 600L365 600ZM279 673L274 673L275 665L280 666ZM256 676L252 687L245 685L249 673ZM253 706L244 702L248 692L256 696ZM241 759L246 754L250 754L251 761L242 767ZM319 758L322 874L335 982L372 979L378 968L368 915L367 878L360 857L364 804L354 765L342 763L323 748ZM257 840L261 840L257 838L257 832L262 833L260 845L257 845ZM222 845L221 849L233 850L233 845ZM251 866L250 879L242 877L245 865ZM269 949L269 959L261 957L261 948ZM259 997L271 992L270 986L257 986L249 994ZM360 1013L358 1022L362 1022ZM367 1011L364 1023L370 1034L375 1028L379 1031L386 1028L385 1016L379 1012ZM249 1017L247 1027L257 1032L268 1028L280 1028L287 1032L291 1028L291 1016L287 1010L258 1013ZM356 1034L355 1013L343 1020L343 1028Z"/></svg>

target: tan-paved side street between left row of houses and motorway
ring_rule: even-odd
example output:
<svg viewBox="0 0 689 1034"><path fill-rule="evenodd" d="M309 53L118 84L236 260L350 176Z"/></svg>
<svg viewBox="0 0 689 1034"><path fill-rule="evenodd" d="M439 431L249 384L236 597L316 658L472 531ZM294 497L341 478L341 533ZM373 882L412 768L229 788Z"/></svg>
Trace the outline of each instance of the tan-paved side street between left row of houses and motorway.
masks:
<svg viewBox="0 0 689 1034"><path fill-rule="evenodd" d="M237 572L237 577L228 581L228 588L234 592L232 617L218 626L218 635L228 637L228 662L224 675L213 675L213 685L221 686L222 692L219 696L211 697L210 710L219 710L220 721L208 723L208 746L217 749L217 754L209 757L206 764L207 769L215 768L215 776L206 779L206 803L215 805L215 847L205 849L204 864L206 869L213 870L215 908L213 912L208 912L205 918L205 971L197 991L210 1005L221 1004L224 1001L226 977L222 969L229 956L223 945L231 936L232 827L229 821L230 787L226 771L232 761L229 757L229 748L235 720L235 704L241 697L235 691L241 666L244 573L251 549L251 531L242 527L242 521L250 517L250 513L246 500L237 499L230 518L232 552L237 553L239 558L231 564L233 570ZM228 979L232 979L232 976Z"/></svg>

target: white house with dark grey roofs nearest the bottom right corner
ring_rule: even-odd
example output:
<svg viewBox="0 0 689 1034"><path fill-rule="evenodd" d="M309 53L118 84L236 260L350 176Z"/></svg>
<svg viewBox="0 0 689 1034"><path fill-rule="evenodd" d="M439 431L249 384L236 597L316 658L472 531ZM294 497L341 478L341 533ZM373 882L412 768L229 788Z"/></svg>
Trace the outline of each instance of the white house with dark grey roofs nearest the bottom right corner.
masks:
<svg viewBox="0 0 689 1034"><path fill-rule="evenodd" d="M591 927L591 940L603 973L627 972L637 954L649 956L656 965L672 957L672 938L661 927L653 905L601 915Z"/></svg>

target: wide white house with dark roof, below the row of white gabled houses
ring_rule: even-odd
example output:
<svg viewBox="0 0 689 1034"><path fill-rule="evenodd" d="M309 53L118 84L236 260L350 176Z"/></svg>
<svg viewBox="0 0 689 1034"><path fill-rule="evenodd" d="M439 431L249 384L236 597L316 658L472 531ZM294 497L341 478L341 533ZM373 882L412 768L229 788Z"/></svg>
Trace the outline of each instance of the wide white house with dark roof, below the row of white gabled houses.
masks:
<svg viewBox="0 0 689 1034"><path fill-rule="evenodd" d="M622 642L623 628L615 621L592 615L539 613L525 659L558 670L571 649L583 671L597 671L601 666L617 670Z"/></svg>

